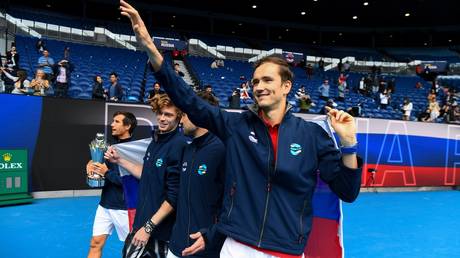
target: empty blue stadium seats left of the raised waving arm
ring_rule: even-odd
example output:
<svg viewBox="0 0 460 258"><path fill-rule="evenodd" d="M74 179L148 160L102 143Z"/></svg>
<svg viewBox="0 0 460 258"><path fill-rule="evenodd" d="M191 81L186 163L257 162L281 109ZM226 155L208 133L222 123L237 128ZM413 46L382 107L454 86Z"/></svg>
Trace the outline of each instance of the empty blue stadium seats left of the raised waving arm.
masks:
<svg viewBox="0 0 460 258"><path fill-rule="evenodd" d="M33 77L40 56L35 49L36 41L36 38L16 36L16 45L21 54L20 66L27 70L29 78ZM94 76L101 75L104 86L109 87L109 74L114 71L119 75L125 100L138 101L141 98L141 83L147 61L145 53L55 40L46 40L46 46L56 63L61 60L64 47L70 47L70 61L75 66L69 87L70 97L90 99Z"/></svg>

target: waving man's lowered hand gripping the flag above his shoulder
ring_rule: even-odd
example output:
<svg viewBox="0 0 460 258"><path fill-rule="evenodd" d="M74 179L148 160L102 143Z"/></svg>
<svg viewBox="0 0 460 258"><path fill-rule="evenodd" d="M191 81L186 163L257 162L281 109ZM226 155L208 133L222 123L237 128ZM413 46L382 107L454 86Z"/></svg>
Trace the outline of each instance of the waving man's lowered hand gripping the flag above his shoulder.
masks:
<svg viewBox="0 0 460 258"><path fill-rule="evenodd" d="M343 110L326 107L331 126L340 138L342 145L353 145L356 140L356 123L353 116Z"/></svg>

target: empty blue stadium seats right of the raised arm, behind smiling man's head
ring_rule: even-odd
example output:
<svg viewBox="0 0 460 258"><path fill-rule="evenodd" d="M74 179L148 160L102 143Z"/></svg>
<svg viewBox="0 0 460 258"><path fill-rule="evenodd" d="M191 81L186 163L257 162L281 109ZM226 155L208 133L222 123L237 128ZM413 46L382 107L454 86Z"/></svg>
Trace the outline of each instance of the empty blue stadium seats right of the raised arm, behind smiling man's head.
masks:
<svg viewBox="0 0 460 258"><path fill-rule="evenodd" d="M211 58L204 57L189 57L188 60L193 66L195 73L198 75L201 84L210 84L213 86L214 92L221 100L222 106L227 106L227 98L231 94L232 89L238 87L241 83L240 76L250 79L252 76L252 67L249 63L238 61L225 61L225 67L219 69L211 69L210 64L213 61ZM324 100L319 99L318 87L322 84L323 78L314 76L308 79L305 71L301 68L293 68L295 79L291 94L288 96L288 101L294 105L294 111L298 111L297 101L295 99L295 91L304 85L307 92L312 97L316 107L310 109L311 113L318 113L320 109L326 104ZM337 78L339 74L337 71L325 73L325 77L329 79L331 84L330 96L336 98L337 92ZM350 73L348 76L348 86L350 91L346 94L344 102L337 101L338 108L347 109L362 103L363 114L366 117L384 118L384 119L401 119L402 113L400 106L404 97L409 97L414 105L413 114L422 111L426 108L426 96L430 85L424 83L423 89L416 89L415 84L419 81L416 76L397 76L396 91L392 95L392 104L386 110L379 109L379 101L373 97L362 96L355 92L359 85L359 81L365 74Z"/></svg>

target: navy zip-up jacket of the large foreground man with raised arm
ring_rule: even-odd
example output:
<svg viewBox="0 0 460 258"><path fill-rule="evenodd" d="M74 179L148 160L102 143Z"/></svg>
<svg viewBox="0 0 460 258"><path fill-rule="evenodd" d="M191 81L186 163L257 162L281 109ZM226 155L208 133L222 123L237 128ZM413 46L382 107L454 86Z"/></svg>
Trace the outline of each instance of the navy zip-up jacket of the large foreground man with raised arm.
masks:
<svg viewBox="0 0 460 258"><path fill-rule="evenodd" d="M302 254L311 230L317 171L334 193L352 202L359 194L362 168L344 166L329 134L289 108L279 126L275 157L257 109L220 110L196 96L165 63L155 78L195 125L209 129L226 146L218 230L249 245Z"/></svg>

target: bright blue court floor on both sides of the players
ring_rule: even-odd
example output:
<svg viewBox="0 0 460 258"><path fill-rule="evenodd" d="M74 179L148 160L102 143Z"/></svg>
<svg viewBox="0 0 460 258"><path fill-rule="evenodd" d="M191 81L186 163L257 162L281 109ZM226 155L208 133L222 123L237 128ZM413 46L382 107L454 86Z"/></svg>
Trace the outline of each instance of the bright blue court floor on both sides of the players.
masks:
<svg viewBox="0 0 460 258"><path fill-rule="evenodd" d="M98 197L0 208L0 257L86 257ZM460 192L362 193L344 204L345 257L460 257ZM120 257L109 237L103 257Z"/></svg>

